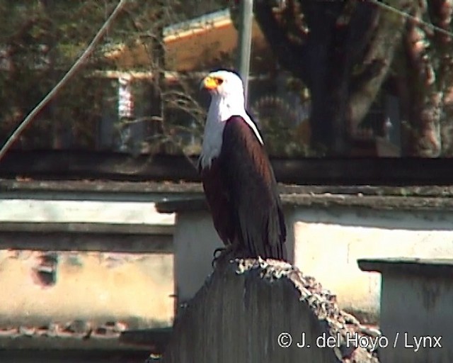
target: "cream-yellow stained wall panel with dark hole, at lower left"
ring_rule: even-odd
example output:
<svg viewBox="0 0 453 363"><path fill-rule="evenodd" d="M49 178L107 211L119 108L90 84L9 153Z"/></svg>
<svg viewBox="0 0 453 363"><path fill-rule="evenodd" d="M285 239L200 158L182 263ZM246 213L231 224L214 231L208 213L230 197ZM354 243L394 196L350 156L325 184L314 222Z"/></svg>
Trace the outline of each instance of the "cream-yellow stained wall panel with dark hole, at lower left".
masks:
<svg viewBox="0 0 453 363"><path fill-rule="evenodd" d="M0 328L73 320L95 326L121 321L127 328L171 325L172 254L57 252L50 267L55 281L47 284L40 279L41 256L0 250Z"/></svg>

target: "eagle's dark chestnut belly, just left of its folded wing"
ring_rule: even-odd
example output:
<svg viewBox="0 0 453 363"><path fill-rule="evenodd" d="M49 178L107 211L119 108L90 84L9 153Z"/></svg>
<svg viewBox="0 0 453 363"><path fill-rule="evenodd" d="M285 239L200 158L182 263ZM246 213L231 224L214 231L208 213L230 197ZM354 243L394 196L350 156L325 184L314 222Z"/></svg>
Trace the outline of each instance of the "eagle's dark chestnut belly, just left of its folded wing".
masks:
<svg viewBox="0 0 453 363"><path fill-rule="evenodd" d="M229 191L224 185L218 159L212 160L211 166L202 169L200 173L214 228L224 244L229 245L234 240L234 224L231 220Z"/></svg>

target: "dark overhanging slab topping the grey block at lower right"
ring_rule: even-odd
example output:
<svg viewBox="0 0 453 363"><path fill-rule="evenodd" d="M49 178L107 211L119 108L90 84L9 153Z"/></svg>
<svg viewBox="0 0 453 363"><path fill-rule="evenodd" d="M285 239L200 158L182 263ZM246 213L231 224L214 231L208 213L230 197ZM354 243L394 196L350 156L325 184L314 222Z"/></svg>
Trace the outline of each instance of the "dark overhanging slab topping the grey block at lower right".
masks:
<svg viewBox="0 0 453 363"><path fill-rule="evenodd" d="M414 274L423 277L453 276L453 259L383 258L358 259L362 271L382 274Z"/></svg>

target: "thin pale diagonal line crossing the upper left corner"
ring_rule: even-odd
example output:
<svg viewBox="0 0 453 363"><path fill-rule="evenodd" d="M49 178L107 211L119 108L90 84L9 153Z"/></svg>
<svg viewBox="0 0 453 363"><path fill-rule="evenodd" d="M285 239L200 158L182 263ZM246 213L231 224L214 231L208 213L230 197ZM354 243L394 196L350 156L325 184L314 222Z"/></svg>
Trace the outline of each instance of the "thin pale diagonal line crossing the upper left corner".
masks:
<svg viewBox="0 0 453 363"><path fill-rule="evenodd" d="M38 113L40 113L42 108L44 108L49 103L49 101L58 93L58 91L60 89L62 89L62 87L65 84L67 84L69 79L71 79L71 77L74 76L74 74L76 74L76 72L82 67L82 65L84 64L86 59L93 52L96 45L98 45L98 43L101 41L101 39L103 38L105 33L107 33L107 30L110 27L110 24L113 22L113 20L116 18L116 16L120 13L122 8L125 6L126 2L127 2L127 0L120 0L120 2L117 4L115 10L110 14L108 19L105 21L105 23L101 27L101 29L99 29L98 33L96 33L93 40L91 40L91 43L88 45L88 47L86 48L84 53L74 63L74 65L71 67L71 69L69 69L67 74L64 74L64 77L57 83L57 85L47 94L47 96L45 96L44 99L42 99L42 101L40 101L38 106L33 108L33 110L30 113L28 113L28 116L24 118L24 120L18 125L18 127L16 128L16 130L14 130L14 132L8 138L8 140L6 140L6 143L1 147L1 150L0 150L0 160L2 159L2 157L4 157L4 155L9 150L9 148L16 141L18 136L21 135L22 131L28 126L28 124L31 123L31 121L33 121L35 116L38 115Z"/></svg>

